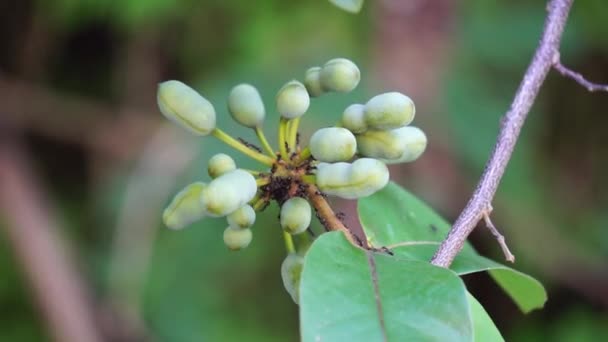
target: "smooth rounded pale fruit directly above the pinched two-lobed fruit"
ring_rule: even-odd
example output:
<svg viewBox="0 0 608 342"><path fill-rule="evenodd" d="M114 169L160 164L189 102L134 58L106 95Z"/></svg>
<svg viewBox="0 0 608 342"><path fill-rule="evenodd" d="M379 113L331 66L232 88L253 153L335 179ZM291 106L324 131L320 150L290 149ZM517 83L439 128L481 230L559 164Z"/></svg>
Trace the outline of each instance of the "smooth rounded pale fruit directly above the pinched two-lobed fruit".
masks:
<svg viewBox="0 0 608 342"><path fill-rule="evenodd" d="M346 128L321 128L310 137L310 151L322 162L347 161L357 152L357 140Z"/></svg>

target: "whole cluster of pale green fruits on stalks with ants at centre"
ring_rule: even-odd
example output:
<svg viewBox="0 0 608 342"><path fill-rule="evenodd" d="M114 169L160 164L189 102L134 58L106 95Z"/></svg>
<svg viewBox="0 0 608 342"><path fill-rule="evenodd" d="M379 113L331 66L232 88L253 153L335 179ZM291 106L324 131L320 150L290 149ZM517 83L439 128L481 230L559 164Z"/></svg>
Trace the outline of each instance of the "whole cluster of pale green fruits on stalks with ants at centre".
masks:
<svg viewBox="0 0 608 342"><path fill-rule="evenodd" d="M212 180L190 184L179 192L163 213L165 224L181 229L205 216L226 217L224 242L239 250L252 240L256 211L276 201L281 206L280 225L288 250L283 280L297 301L302 253L309 242L297 239L299 243L294 244L293 235L308 229L313 208L328 230L339 229L339 218L325 195L369 196L388 183L387 164L413 161L426 148L425 134L408 126L414 119L414 103L398 92L350 105L335 127L319 129L308 146L300 146L298 127L311 98L349 92L359 80L359 68L353 62L336 58L308 69L304 83L286 83L276 95L278 149L272 148L262 129L266 109L254 86L235 86L228 96L228 111L236 122L255 131L263 149L216 127L215 108L194 89L179 81L161 83L158 105L167 118L196 135L214 136L265 166L262 171L240 169L230 156L214 155L208 163ZM355 157L359 158L353 161ZM352 236L350 240L357 243Z"/></svg>

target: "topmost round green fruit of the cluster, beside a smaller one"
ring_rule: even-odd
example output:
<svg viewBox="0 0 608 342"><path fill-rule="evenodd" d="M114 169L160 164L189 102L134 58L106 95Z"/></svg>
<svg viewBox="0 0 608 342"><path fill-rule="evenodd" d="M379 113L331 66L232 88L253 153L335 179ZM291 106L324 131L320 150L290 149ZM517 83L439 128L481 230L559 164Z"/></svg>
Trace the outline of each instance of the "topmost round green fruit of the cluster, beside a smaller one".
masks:
<svg viewBox="0 0 608 342"><path fill-rule="evenodd" d="M321 68L321 85L326 91L347 93L359 84L361 73L357 65L346 58L335 58Z"/></svg>

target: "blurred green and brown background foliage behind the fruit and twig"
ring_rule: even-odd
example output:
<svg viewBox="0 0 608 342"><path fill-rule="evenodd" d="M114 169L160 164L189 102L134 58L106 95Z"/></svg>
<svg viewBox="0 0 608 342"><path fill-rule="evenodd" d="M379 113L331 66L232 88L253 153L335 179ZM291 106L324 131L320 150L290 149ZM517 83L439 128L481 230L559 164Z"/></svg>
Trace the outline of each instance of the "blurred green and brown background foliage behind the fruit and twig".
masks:
<svg viewBox="0 0 608 342"><path fill-rule="evenodd" d="M170 125L156 85L179 79L229 120L227 94L259 87L275 141L274 94L334 57L362 83L313 102L305 138L350 103L399 90L429 137L392 178L453 221L471 195L536 47L544 1L368 0L351 15L326 0L0 2L0 341L293 341L276 208L239 253L225 223L180 232L160 215L228 152ZM608 2L575 2L562 62L608 82ZM524 316L487 276L466 278L507 340L608 337L608 94L552 72L494 202L515 267L543 282ZM354 203L338 203L351 222ZM502 261L491 235L472 236Z"/></svg>

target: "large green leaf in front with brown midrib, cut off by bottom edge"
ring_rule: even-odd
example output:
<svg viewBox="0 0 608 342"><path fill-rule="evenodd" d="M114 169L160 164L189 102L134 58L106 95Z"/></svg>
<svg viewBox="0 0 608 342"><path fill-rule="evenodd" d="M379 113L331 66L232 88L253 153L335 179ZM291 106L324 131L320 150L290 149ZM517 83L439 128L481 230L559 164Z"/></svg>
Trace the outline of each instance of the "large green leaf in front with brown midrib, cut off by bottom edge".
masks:
<svg viewBox="0 0 608 342"><path fill-rule="evenodd" d="M466 289L452 271L353 247L340 232L306 254L303 341L472 341Z"/></svg>

